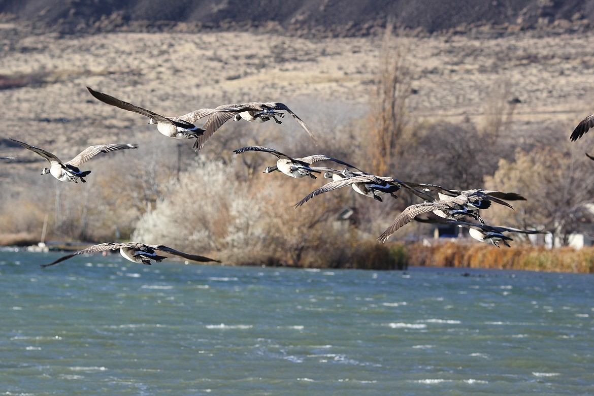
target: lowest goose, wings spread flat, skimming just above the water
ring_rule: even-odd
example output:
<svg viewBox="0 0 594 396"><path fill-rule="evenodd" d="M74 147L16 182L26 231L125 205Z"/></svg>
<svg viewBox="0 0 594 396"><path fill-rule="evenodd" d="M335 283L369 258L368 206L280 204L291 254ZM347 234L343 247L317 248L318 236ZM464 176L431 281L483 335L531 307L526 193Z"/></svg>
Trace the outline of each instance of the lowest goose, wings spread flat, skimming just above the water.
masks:
<svg viewBox="0 0 594 396"><path fill-rule="evenodd" d="M145 245L144 243L138 242L106 242L106 243L99 243L99 245L89 246L89 248L83 249L78 252L71 253L69 255L65 255L56 261L50 262L49 264L42 264L41 268L49 267L50 265L58 264L61 261L67 260L79 254L93 254L97 252L105 252L105 251L112 251L119 249L119 253L127 260L132 262L138 262L140 264L147 264L151 265L151 260L155 262L162 262L166 259L166 256L159 256L157 255L156 251L162 251L165 253L169 253L172 255L180 256L183 258L187 258L188 260L192 261L199 261L199 262L207 262L207 261L216 261L220 262L219 260L215 260L212 258L198 256L193 254L188 254L180 251L176 251L175 249L168 248L165 245Z"/></svg>

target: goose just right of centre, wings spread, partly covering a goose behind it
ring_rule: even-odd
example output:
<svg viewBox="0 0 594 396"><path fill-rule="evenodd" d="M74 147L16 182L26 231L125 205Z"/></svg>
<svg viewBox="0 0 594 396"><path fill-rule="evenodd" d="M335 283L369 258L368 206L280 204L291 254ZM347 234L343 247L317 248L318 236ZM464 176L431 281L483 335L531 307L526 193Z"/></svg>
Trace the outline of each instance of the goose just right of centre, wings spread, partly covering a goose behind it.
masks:
<svg viewBox="0 0 594 396"><path fill-rule="evenodd" d="M326 183L325 185L321 186L315 191L309 193L305 198L297 202L297 204L295 204L295 207L300 207L301 205L305 204L305 202L309 201L309 199L314 198L317 195L324 194L324 192L334 191L336 189L343 188L349 185L352 186L352 188L359 194L365 195L366 197L374 198L380 202L382 201L380 197L380 195L382 194L390 194L392 197L398 198L396 197L394 192L399 191L401 187L406 188L413 194L418 195L423 199L433 199L432 197L429 197L423 192L410 187L409 185L407 185L406 182L402 182L398 179L387 178L384 176L353 173L349 169L343 169L338 174L336 172L330 171L324 174L324 176L328 177L330 173L332 174L331 177L333 181L331 181L330 183Z"/></svg>

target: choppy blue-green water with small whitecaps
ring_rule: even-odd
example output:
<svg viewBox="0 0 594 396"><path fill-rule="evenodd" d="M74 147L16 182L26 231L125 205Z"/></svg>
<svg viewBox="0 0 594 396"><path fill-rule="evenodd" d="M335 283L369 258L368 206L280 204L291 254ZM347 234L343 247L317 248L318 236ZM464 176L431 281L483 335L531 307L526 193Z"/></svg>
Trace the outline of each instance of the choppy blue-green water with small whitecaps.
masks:
<svg viewBox="0 0 594 396"><path fill-rule="evenodd" d="M594 277L0 252L0 394L594 395Z"/></svg>

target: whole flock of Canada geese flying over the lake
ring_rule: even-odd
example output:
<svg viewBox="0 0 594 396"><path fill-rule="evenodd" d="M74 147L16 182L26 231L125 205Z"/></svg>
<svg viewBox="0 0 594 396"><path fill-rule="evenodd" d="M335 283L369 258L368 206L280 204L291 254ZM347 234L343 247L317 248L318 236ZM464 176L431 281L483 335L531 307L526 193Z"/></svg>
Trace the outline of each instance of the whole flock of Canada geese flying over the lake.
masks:
<svg viewBox="0 0 594 396"><path fill-rule="evenodd" d="M176 139L195 139L193 148L195 151L200 150L206 144L208 138L210 138L214 132L217 131L225 122L229 119L235 121L245 120L249 122L266 122L273 119L276 123L282 123L279 120L285 117L283 113L289 113L293 119L304 129L305 132L315 141L315 135L312 134L311 130L299 118L289 107L284 103L280 102L250 102L250 103L236 103L236 104L223 104L222 106L215 107L214 109L198 109L193 112L187 113L181 116L165 117L151 110L144 109L143 107L135 106L134 104L124 102L123 100L117 99L108 94L95 91L87 87L90 94L101 102L110 104L112 106L119 107L130 112L135 112L140 115L149 118L150 125L157 125L157 130L165 135L166 137ZM204 125L198 128L194 123L199 119L206 118ZM570 136L571 141L576 141L581 138L586 132L594 126L594 114L584 118L574 129ZM14 140L15 142L26 148L27 150L33 151L34 153L42 156L49 161L49 167L45 167L42 170L42 175L50 173L54 178L62 182L75 182L80 180L86 183L84 179L88 176L90 170L80 170L80 166L89 161L93 157L101 153L110 153L112 151L127 150L131 148L137 148L136 144L100 144L91 145L83 150L80 154L75 156L73 159L63 162L57 156L49 151L43 150L42 148L34 147L27 144L26 142ZM378 237L380 242L386 242L388 238L393 235L400 227L405 226L413 219L426 222L426 223L445 223L452 224L458 227L466 227L469 230L469 234L476 240L481 242L490 242L493 245L499 247L500 243L504 243L505 246L510 246L509 241L513 240L511 237L505 235L505 233L544 233L544 231L538 230L523 230L516 229L513 227L503 226L490 226L485 224L485 221L481 218L479 210L485 210L491 207L492 203L504 205L508 208L513 207L507 201L525 200L519 194L514 192L501 192L501 191L489 191L484 189L470 189L470 190L456 190L446 189L438 185L431 183L415 183L415 182L403 182L402 180L391 178L387 176L377 176L367 173L355 167L345 161L328 157L324 154L314 154L303 158L293 158L287 154L283 154L280 151L274 150L273 148L264 146L247 146L239 148L233 151L235 154L246 153L247 151L260 151L263 153L272 154L277 158L276 165L267 166L264 169L264 173L271 173L279 171L292 178L317 178L316 175L321 175L323 178L332 179L331 182L326 183L318 189L315 189L301 201L295 204L295 207L301 207L306 202L311 200L318 195L325 194L326 192L334 191L346 186L351 186L353 190L366 197L374 198L377 201L383 201L381 198L384 194L390 194L391 197L397 198L396 192L400 189L404 189L421 198L423 202L419 204L413 204L405 208L399 213L394 219L393 223ZM594 156L586 154L590 159L594 160ZM2 160L10 160L15 157L0 157ZM336 164L345 166L344 169L334 169L331 167L324 166L313 166L314 163L321 161L332 161ZM353 171L354 169L355 171ZM437 218L418 218L422 214L433 213ZM469 218L472 218L476 223L470 223ZM81 254L93 254L97 252L106 252L112 250L118 250L120 254L129 261L137 262L140 264L151 264L151 262L161 262L166 256L160 256L157 251L165 254L181 256L192 261L197 262L219 262L216 259L208 257L188 254L181 251L177 251L173 248L169 248L164 245L147 245L145 243L138 242L107 242L100 243L99 245L93 245L89 248L82 249L77 252L62 256L49 264L42 264L41 267L49 267L50 265L58 264L59 262L65 261L76 255Z"/></svg>

